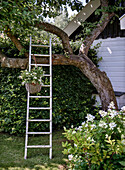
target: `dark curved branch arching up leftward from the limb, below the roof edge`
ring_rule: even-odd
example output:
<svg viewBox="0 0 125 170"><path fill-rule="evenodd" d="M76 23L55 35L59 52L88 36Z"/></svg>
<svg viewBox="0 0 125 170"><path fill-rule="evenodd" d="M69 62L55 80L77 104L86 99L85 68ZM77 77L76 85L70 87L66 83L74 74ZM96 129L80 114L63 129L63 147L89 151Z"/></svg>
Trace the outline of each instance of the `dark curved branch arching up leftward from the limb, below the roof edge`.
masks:
<svg viewBox="0 0 125 170"><path fill-rule="evenodd" d="M37 23L36 27L38 27L39 29L42 28L43 30L48 31L52 34L56 34L58 37L61 38L64 50L69 55L73 54L72 48L71 48L70 43L69 43L69 37L63 30L56 27L55 25L45 23L45 22Z"/></svg>

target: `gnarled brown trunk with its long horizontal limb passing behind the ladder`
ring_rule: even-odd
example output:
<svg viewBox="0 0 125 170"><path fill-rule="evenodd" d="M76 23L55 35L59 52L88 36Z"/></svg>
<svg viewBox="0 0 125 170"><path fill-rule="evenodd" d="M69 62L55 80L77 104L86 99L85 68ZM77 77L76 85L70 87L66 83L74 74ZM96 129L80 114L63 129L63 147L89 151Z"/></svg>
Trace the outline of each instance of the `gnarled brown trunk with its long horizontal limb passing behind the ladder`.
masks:
<svg viewBox="0 0 125 170"><path fill-rule="evenodd" d="M48 59L37 58L37 63L48 63ZM0 62L3 67L9 68L22 68L25 69L27 66L27 59L15 59L8 58L4 54L0 53ZM68 58L64 55L53 54L52 55L53 65L73 65L78 67L81 72L88 77L96 88L102 103L103 110L108 109L108 105L111 101L115 103L117 108L117 102L115 94L109 78L105 72L101 72L93 62L84 54L81 55L70 55Z"/></svg>

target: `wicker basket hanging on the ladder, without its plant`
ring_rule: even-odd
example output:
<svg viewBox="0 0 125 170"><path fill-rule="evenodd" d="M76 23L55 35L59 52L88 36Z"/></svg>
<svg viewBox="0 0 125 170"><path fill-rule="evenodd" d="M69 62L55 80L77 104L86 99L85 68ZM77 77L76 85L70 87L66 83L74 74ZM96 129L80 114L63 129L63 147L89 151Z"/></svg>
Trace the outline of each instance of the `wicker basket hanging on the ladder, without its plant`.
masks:
<svg viewBox="0 0 125 170"><path fill-rule="evenodd" d="M38 92L41 91L42 84L30 84L30 83L26 83L25 87L26 87L26 90L29 93L34 94L34 93L38 93Z"/></svg>

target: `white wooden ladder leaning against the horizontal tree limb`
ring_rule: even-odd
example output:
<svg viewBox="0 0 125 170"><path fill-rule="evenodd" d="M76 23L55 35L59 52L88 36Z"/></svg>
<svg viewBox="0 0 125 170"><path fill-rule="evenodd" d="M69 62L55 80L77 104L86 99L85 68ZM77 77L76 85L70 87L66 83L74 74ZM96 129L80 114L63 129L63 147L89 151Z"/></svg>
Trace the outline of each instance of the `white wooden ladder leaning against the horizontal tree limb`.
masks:
<svg viewBox="0 0 125 170"><path fill-rule="evenodd" d="M49 48L49 54L32 54L31 49L32 47L40 47L40 48ZM30 45L29 45L29 71L31 71L31 67L35 66L36 64L32 64L32 56L39 56L39 57L49 57L49 64L37 64L37 66L49 67L49 74L45 74L45 76L50 77L50 84L49 85L42 85L42 87L48 87L49 89L49 96L34 96L27 92L27 116L26 116L26 137L25 137L25 155L24 159L27 158L27 149L28 148L49 148L49 158L52 159L52 47L51 47L51 38L49 39L48 45L37 45L32 44L32 37L30 37ZM30 98L48 98L49 99L49 107L30 107ZM31 109L35 110L49 110L49 119L30 119L29 112ZM49 122L49 132L29 132L29 122ZM49 135L49 145L28 145L28 135Z"/></svg>

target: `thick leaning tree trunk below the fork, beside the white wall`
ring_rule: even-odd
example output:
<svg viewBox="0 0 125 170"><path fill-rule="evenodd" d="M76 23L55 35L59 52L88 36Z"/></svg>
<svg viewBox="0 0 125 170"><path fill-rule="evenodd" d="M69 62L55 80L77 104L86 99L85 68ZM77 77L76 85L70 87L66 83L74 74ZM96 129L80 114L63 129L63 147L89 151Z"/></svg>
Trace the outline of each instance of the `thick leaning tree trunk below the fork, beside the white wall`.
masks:
<svg viewBox="0 0 125 170"><path fill-rule="evenodd" d="M101 99L102 109L107 110L109 103L114 102L116 109L118 109L115 93L112 84L105 72L100 71L87 56L82 55L81 62L75 63L76 67L88 77L93 86L96 88Z"/></svg>

